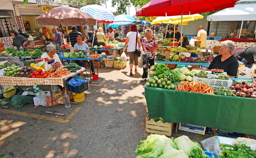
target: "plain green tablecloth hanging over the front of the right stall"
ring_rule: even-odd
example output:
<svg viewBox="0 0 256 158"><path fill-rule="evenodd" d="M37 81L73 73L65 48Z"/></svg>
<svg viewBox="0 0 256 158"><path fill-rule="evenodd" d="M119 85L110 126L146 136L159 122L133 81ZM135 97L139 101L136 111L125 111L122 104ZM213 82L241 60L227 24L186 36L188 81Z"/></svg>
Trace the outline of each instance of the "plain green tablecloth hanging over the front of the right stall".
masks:
<svg viewBox="0 0 256 158"><path fill-rule="evenodd" d="M256 99L144 88L149 118L256 135Z"/></svg>

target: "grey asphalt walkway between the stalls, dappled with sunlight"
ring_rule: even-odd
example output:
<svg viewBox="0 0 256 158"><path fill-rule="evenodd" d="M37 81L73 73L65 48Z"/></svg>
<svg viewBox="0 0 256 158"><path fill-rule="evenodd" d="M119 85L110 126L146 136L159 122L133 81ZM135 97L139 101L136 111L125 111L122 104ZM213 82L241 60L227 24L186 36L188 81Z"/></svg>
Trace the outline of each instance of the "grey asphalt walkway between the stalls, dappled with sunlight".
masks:
<svg viewBox="0 0 256 158"><path fill-rule="evenodd" d="M52 112L51 107L35 109L28 104L18 110L0 109L0 123L4 123L0 125L0 157L136 157L139 141L150 134L144 130L146 81L141 81L142 68L138 70L130 76L129 61L125 69L99 68L99 77L105 79L90 84L83 102L71 104L69 109L63 104L54 107L55 113L65 114L61 118L45 113ZM181 135L196 142L209 137L207 132L201 135L181 130L173 137Z"/></svg>

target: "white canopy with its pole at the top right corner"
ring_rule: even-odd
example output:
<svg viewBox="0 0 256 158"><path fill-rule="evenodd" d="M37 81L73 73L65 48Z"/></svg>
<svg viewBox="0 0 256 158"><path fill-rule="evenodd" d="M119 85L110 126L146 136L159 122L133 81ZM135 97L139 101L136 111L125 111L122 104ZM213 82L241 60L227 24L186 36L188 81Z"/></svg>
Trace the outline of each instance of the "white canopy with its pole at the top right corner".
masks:
<svg viewBox="0 0 256 158"><path fill-rule="evenodd" d="M256 3L239 3L232 8L226 8L207 16L208 21L242 21L239 38L243 26L243 21L256 20Z"/></svg>

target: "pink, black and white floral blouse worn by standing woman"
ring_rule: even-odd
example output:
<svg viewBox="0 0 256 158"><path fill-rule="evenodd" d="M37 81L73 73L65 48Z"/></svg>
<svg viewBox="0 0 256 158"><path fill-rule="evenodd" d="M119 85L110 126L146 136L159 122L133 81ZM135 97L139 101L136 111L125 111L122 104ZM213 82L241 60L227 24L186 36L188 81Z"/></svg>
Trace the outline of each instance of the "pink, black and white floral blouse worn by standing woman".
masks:
<svg viewBox="0 0 256 158"><path fill-rule="evenodd" d="M149 52L147 51L146 47L149 48L149 49L153 49L155 47L158 47L157 46L157 42L156 42L156 38L152 37L152 39L150 41L148 41L146 39L146 37L144 37L142 39L142 43L141 43L142 47L143 47L143 51L146 53L147 57L149 59L154 59L156 57L156 53L155 51L152 51L152 52Z"/></svg>

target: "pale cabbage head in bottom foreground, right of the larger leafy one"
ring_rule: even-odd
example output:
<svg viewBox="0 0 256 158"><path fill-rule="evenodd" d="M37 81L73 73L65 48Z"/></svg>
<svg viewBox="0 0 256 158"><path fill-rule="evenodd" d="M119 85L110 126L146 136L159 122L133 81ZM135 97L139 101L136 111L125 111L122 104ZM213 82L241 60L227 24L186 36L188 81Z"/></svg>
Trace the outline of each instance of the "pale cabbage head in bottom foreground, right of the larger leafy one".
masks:
<svg viewBox="0 0 256 158"><path fill-rule="evenodd" d="M174 140L174 143L177 145L178 149L182 149L190 157L201 157L207 158L208 156L203 152L201 146L192 142L187 136L180 136Z"/></svg>

